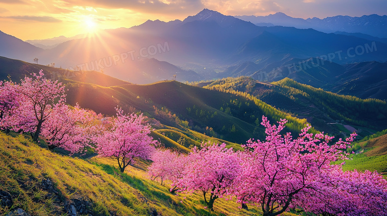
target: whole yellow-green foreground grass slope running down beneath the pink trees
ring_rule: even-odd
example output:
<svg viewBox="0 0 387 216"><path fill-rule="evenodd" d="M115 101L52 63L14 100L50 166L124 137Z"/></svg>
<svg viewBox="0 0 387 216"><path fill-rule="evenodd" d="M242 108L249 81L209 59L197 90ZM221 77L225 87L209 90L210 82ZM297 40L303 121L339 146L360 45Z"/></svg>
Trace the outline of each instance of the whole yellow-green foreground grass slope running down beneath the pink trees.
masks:
<svg viewBox="0 0 387 216"><path fill-rule="evenodd" d="M34 216L64 215L64 202L78 199L87 200L89 210L101 216L147 216L151 210L165 216L209 215L201 196L192 194L183 199L151 181L146 173L149 162L139 161L124 174L114 163L105 158L82 160L60 155L22 135L11 137L0 132L0 190L11 194L11 210L21 208ZM51 179L56 192L43 186L45 179ZM235 202L224 199L218 199L214 209L213 216L258 213L251 206L249 211L241 210ZM0 215L9 210L0 207Z"/></svg>

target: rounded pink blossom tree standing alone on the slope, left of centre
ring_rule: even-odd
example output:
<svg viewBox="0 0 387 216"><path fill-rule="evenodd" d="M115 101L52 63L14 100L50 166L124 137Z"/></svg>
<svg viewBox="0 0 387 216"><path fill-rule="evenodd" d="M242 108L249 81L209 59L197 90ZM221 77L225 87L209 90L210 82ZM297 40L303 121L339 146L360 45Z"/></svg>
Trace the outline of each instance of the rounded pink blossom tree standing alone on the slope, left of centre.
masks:
<svg viewBox="0 0 387 216"><path fill-rule="evenodd" d="M150 159L157 141L153 140L150 126L143 122L143 115L135 113L125 115L122 109L116 109L117 117L106 123L101 135L94 137L96 151L100 156L117 160L120 171L132 164L134 158Z"/></svg>

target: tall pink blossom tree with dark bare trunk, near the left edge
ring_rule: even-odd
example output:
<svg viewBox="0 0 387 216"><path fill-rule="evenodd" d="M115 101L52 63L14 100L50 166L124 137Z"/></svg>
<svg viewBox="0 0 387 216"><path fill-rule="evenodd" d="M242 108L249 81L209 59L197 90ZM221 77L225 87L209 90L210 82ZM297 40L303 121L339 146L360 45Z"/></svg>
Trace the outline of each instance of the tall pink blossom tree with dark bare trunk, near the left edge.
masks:
<svg viewBox="0 0 387 216"><path fill-rule="evenodd" d="M34 141L37 141L42 130L43 123L50 117L56 105L65 103L65 86L58 81L52 81L44 78L43 70L39 71L39 75L33 73L33 78L25 77L21 80L20 93L31 104L25 112L31 112L33 119L33 130L31 136Z"/></svg>

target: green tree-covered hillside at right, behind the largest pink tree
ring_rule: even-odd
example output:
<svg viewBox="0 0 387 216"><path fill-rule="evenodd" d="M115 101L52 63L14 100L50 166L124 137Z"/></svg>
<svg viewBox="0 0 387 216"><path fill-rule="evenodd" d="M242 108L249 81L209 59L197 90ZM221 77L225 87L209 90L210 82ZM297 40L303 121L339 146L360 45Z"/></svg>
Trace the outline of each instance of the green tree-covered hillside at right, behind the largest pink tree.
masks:
<svg viewBox="0 0 387 216"><path fill-rule="evenodd" d="M271 84L247 77L226 78L204 87L247 93L337 137L353 130L364 137L387 128L385 101L338 95L288 78Z"/></svg>

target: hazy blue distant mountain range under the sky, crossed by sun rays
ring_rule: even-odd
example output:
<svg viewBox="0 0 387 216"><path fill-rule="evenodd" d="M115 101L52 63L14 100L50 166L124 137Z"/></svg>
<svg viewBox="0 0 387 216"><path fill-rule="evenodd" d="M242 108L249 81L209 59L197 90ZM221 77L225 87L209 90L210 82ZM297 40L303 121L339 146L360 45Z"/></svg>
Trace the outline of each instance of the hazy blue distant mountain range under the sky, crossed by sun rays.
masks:
<svg viewBox="0 0 387 216"><path fill-rule="evenodd" d="M171 80L174 75L178 81L210 80L224 77L222 72L227 68L246 61L257 64L257 69L265 69L311 57L339 64L387 60L387 44L372 38L256 26L208 9L183 21L148 20L129 29L105 30L50 49L38 48L4 33L0 33L0 39L1 56L29 62L37 57L41 64L102 70L138 84ZM176 66L174 71L166 62Z"/></svg>

